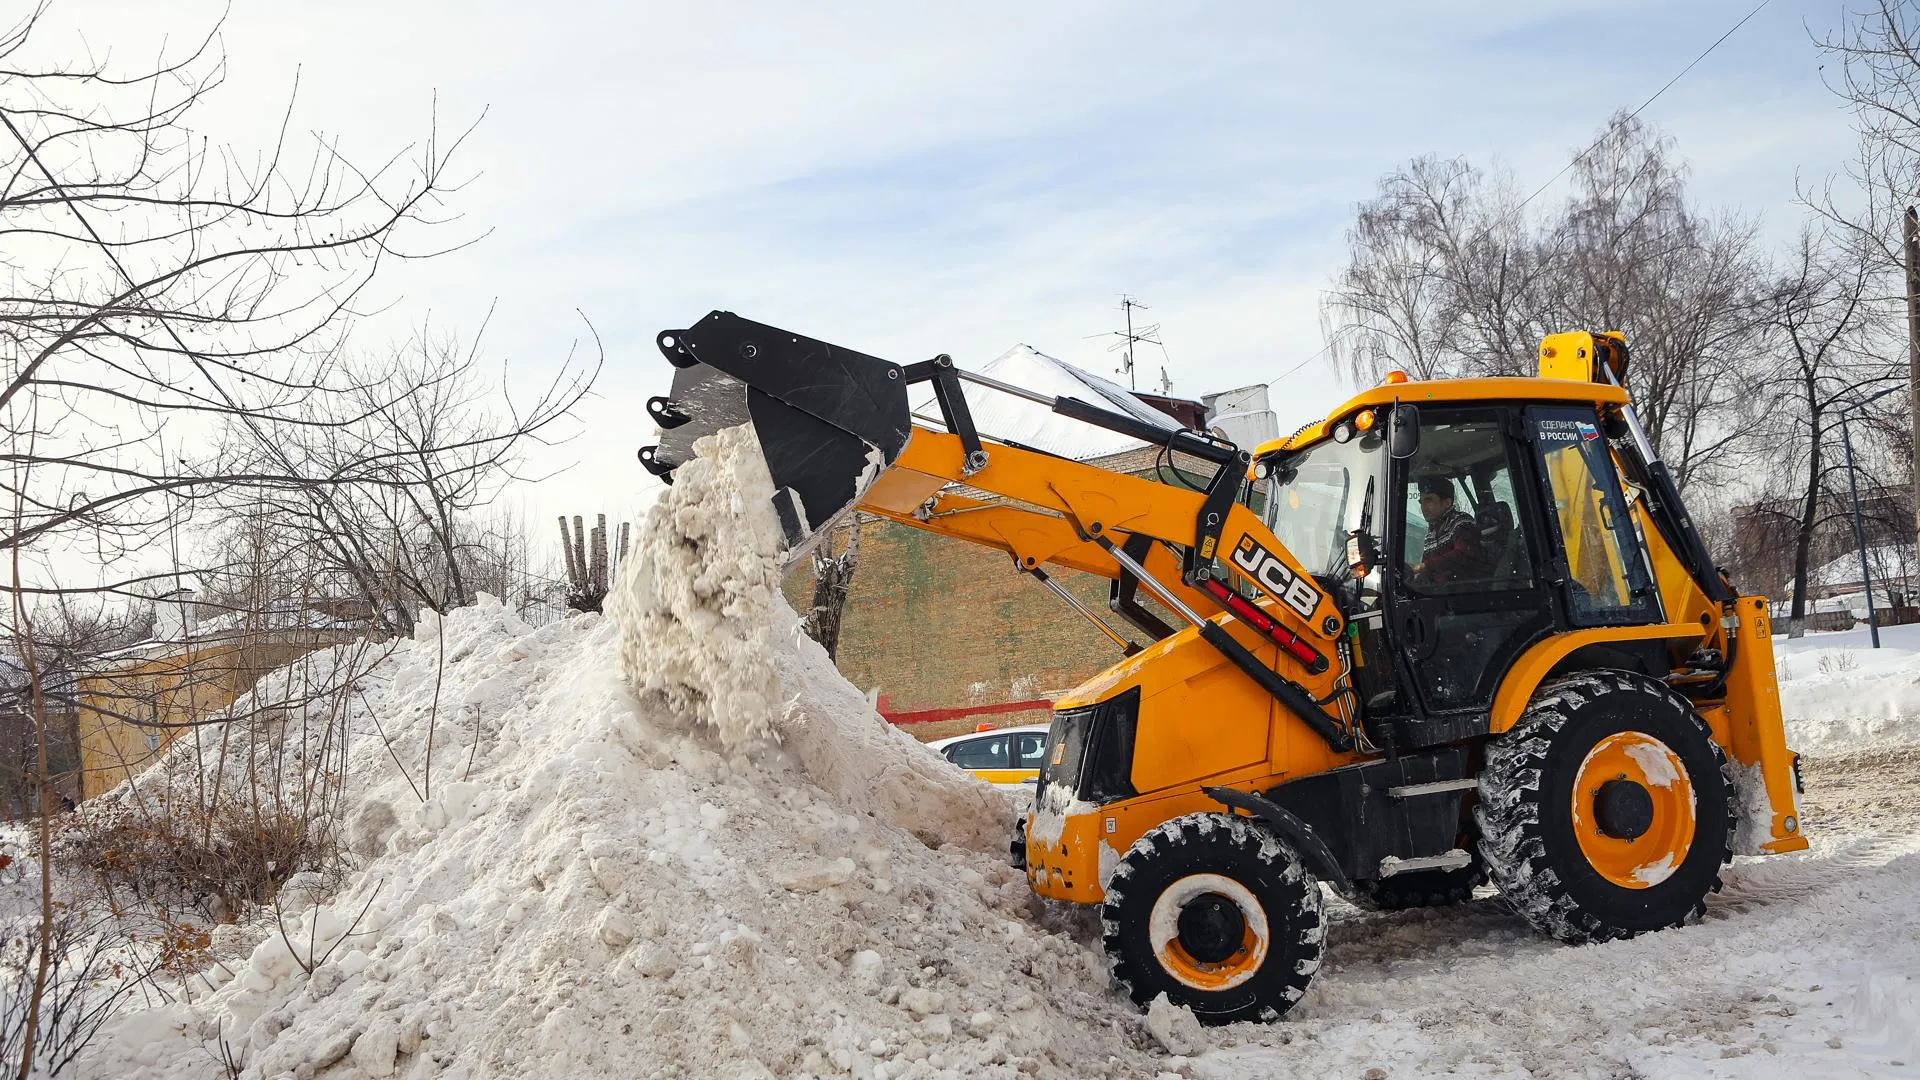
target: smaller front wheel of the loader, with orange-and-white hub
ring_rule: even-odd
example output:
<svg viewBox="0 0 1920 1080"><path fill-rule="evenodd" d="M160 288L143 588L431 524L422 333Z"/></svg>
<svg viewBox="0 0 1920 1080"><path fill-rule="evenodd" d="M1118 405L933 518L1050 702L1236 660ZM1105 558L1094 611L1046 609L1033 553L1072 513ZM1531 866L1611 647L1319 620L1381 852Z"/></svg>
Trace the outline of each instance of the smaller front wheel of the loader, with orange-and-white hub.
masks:
<svg viewBox="0 0 1920 1080"><path fill-rule="evenodd" d="M1300 855L1256 821L1194 813L1121 857L1100 907L1114 978L1202 1024L1277 1020L1319 970L1325 913Z"/></svg>

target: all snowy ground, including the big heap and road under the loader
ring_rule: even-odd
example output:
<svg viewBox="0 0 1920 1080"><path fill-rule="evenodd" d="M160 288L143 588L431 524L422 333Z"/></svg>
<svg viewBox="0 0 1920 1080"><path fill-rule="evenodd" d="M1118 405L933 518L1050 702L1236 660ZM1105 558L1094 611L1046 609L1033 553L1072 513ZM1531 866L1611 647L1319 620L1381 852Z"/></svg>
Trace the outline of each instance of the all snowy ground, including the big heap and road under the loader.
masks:
<svg viewBox="0 0 1920 1080"><path fill-rule="evenodd" d="M1812 849L1738 861L1705 922L1565 947L1498 897L1334 903L1284 1022L1200 1030L1106 982L1096 922L1004 867L1000 796L870 711L714 505L764 502L682 471L649 528L710 573L618 621L488 601L403 642L351 719L340 894L228 932L84 1074L1920 1074L1920 628L1780 642Z"/></svg>

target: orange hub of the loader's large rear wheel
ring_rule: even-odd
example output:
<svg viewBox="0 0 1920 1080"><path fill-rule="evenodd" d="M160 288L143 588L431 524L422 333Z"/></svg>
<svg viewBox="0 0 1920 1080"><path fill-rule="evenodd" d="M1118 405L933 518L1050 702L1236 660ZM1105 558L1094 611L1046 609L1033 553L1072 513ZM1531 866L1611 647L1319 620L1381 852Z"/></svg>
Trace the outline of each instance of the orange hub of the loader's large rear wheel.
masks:
<svg viewBox="0 0 1920 1080"><path fill-rule="evenodd" d="M1599 876L1653 888L1693 847L1693 782L1665 742L1645 732L1599 740L1572 780L1572 830Z"/></svg>

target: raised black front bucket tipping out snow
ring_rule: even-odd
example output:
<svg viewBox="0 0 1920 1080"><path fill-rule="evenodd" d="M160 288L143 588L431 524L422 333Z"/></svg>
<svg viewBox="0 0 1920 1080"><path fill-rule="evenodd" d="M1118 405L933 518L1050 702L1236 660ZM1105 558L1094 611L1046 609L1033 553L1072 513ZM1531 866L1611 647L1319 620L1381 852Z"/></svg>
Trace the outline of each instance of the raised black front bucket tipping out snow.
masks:
<svg viewBox="0 0 1920 1080"><path fill-rule="evenodd" d="M912 434L897 363L732 311L662 331L659 344L678 371L668 396L647 402L660 442L639 463L672 482L697 438L753 423L789 559L852 509Z"/></svg>

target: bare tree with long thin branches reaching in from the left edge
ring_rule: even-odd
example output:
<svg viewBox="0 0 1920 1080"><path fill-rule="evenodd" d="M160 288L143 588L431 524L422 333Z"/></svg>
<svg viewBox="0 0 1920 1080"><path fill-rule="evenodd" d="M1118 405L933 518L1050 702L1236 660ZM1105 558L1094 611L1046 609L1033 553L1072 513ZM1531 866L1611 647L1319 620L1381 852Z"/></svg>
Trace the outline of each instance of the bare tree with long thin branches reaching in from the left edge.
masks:
<svg viewBox="0 0 1920 1080"><path fill-rule="evenodd" d="M365 163L298 136L288 104L276 142L240 152L198 127L225 73L217 27L129 65L56 38L46 10L0 23L0 636L23 659L42 809L38 947L8 1042L21 1076L58 1001L48 605L171 588L196 523L234 507L273 507L305 542L359 528L353 557L319 569L396 609L468 600L461 517L591 379L568 369L495 415L472 356L376 365L348 346L382 265L472 240L444 206L465 133L428 115Z"/></svg>

